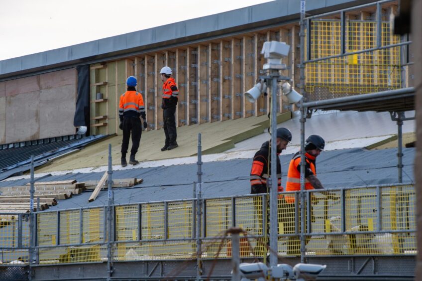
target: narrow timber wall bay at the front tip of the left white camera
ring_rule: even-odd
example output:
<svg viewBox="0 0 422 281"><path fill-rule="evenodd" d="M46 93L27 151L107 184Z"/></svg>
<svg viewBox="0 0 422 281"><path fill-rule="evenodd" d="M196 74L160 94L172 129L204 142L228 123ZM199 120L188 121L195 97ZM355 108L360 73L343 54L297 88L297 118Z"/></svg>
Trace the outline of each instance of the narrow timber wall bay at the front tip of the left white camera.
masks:
<svg viewBox="0 0 422 281"><path fill-rule="evenodd" d="M243 92L248 91L255 85L255 79L253 78L253 64L254 59L252 57L253 51L253 40L250 36L243 36ZM249 102L245 95L243 95L243 117L250 117L254 115L255 105Z"/></svg>

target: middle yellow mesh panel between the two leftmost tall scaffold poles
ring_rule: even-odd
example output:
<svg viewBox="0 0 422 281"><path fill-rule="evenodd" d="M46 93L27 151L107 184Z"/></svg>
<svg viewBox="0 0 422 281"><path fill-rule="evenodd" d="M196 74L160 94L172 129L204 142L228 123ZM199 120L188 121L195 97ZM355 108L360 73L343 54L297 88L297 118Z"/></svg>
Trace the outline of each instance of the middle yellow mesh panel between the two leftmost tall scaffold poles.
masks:
<svg viewBox="0 0 422 281"><path fill-rule="evenodd" d="M80 243L79 210L60 212L60 244Z"/></svg>

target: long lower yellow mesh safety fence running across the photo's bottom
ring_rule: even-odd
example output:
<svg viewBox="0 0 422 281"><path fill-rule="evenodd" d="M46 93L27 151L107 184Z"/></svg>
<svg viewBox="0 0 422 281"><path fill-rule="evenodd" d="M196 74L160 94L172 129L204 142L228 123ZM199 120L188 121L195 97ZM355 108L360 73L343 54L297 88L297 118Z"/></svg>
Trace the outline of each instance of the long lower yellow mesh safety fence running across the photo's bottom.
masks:
<svg viewBox="0 0 422 281"><path fill-rule="evenodd" d="M306 229L300 229L300 192L280 193L278 255L300 256L301 234L306 256L416 255L414 185L306 191ZM34 264L224 259L231 257L224 232L241 227L240 256L268 253L267 194L201 200L113 205L112 227L107 206L35 213ZM197 223L201 233L197 236ZM1 215L3 261L28 261L28 214ZM108 231L112 241L107 241ZM198 251L198 247L200 251ZM19 252L20 251L20 252Z"/></svg>

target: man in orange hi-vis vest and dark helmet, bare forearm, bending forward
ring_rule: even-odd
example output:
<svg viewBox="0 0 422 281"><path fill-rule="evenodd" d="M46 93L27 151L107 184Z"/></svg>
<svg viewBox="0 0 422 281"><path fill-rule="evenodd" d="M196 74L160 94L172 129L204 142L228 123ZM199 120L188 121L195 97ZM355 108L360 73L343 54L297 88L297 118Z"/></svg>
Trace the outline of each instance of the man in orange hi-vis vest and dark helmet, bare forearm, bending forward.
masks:
<svg viewBox="0 0 422 281"><path fill-rule="evenodd" d="M319 153L324 150L325 141L318 135L311 135L305 142L305 188L323 189L323 186L317 178L316 159ZM300 191L301 190L301 153L297 152L290 161L289 170L287 172L286 191ZM295 194L285 194L284 204L282 204L284 233L295 233ZM312 208L312 206L311 206ZM311 214L312 214L311 209ZM300 229L300 213L299 226ZM313 215L311 215L313 216ZM311 220L314 221L313 217ZM306 222L305 222L306 224ZM309 242L309 237L306 238L306 244ZM298 236L289 236L287 242L287 255L300 256L301 242Z"/></svg>

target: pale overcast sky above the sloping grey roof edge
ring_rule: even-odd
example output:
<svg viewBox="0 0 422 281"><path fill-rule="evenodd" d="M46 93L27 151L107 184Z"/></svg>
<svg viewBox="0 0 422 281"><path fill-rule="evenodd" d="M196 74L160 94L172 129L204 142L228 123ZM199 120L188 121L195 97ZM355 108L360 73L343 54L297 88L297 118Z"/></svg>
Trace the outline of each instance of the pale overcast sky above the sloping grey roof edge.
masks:
<svg viewBox="0 0 422 281"><path fill-rule="evenodd" d="M269 0L0 0L0 60Z"/></svg>

